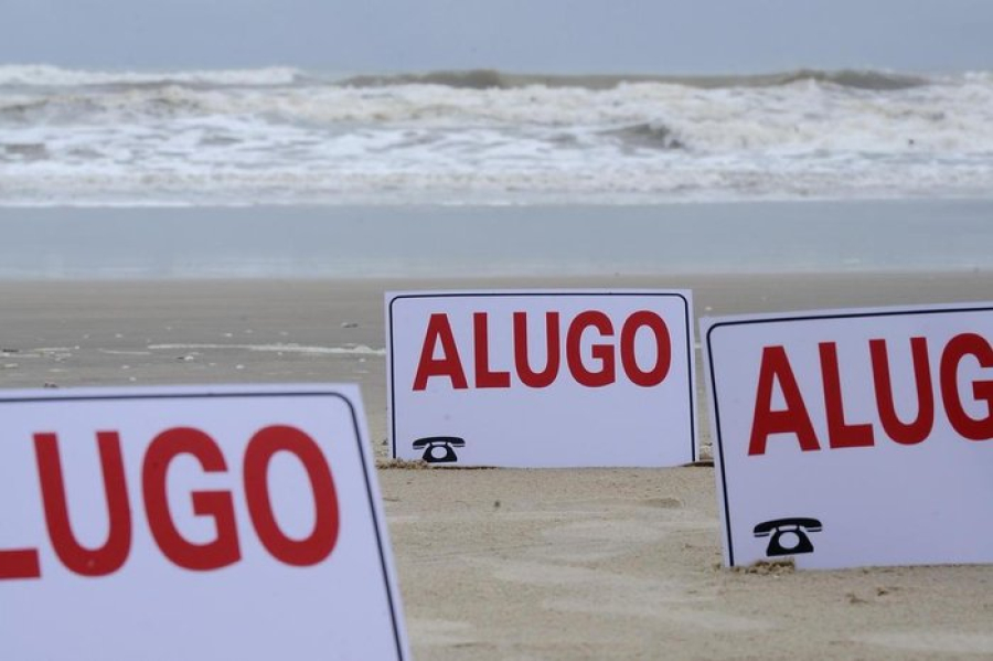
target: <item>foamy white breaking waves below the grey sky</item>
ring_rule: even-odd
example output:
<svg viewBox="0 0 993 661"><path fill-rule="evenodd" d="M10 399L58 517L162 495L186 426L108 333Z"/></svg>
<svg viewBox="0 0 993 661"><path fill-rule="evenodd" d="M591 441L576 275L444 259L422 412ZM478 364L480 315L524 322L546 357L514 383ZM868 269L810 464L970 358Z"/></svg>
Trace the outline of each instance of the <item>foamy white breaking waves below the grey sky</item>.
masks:
<svg viewBox="0 0 993 661"><path fill-rule="evenodd" d="M0 66L0 204L643 205L993 191L993 72Z"/></svg>

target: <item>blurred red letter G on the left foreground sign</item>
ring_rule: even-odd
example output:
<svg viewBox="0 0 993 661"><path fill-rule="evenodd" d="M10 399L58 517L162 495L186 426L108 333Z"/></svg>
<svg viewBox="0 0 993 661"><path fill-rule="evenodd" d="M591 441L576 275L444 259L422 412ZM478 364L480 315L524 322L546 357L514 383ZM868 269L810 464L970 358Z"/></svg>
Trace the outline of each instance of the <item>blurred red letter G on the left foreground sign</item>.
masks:
<svg viewBox="0 0 993 661"><path fill-rule="evenodd" d="M192 455L205 472L224 472L227 463L214 439L191 427L175 427L159 434L145 455L142 482L148 525L159 548L173 563L185 569L220 569L238 562L242 550L234 518L234 504L228 491L193 491L193 513L212 516L217 536L206 544L186 541L175 527L169 512L166 478L169 465L179 455Z"/></svg>

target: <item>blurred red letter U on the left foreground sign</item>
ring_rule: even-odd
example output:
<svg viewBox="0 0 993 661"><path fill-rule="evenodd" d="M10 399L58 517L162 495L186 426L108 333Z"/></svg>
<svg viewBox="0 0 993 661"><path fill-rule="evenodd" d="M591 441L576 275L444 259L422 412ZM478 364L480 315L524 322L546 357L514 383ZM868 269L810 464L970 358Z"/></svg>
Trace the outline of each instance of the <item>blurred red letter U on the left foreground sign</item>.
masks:
<svg viewBox="0 0 993 661"><path fill-rule="evenodd" d="M54 434L34 435L34 454L52 548L67 569L81 576L106 576L117 572L131 550L131 507L117 431L98 431L97 445L100 448L109 531L103 546L85 548L76 541L68 520L58 439Z"/></svg>

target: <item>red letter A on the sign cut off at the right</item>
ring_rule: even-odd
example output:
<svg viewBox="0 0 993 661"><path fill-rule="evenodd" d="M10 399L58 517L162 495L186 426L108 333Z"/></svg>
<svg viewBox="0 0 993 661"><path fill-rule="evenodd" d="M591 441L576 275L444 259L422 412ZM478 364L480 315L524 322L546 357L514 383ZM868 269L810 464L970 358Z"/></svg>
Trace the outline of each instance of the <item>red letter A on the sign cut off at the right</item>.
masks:
<svg viewBox="0 0 993 661"><path fill-rule="evenodd" d="M786 399L787 407L783 411L772 411L772 385L776 380L779 381L782 397ZM765 455L770 434L796 434L800 449L804 452L821 449L803 396L800 394L800 386L797 385L797 377L793 376L786 349L782 347L766 347L762 350L748 454Z"/></svg>

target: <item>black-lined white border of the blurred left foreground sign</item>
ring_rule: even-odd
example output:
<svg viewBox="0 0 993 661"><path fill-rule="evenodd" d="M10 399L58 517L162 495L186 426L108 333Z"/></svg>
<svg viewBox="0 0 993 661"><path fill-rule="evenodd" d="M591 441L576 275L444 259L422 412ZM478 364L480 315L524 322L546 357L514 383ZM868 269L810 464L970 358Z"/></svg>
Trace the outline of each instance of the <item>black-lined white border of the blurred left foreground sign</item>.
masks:
<svg viewBox="0 0 993 661"><path fill-rule="evenodd" d="M81 387L65 390L0 390L0 407L6 404L31 404L55 402L97 402L97 401L134 401L134 399L227 399L227 398L254 398L254 397L332 397L341 399L349 408L352 427L355 431L355 443L359 445L360 469L365 483L365 495L369 512L373 519L373 529L376 533L376 547L380 555L381 578L385 590L386 603L389 605L389 621L393 626L393 640L396 649L396 659L407 661L409 655L409 641L404 625L404 614L399 595L399 583L392 562L392 548L389 544L386 515L381 502L376 499L380 493L375 473L375 463L371 461L369 439L365 427L360 419L355 402L346 391L353 391L361 397L357 385L344 384L255 384L255 385L184 385L184 386L106 386ZM361 411L361 401L360 401Z"/></svg>

